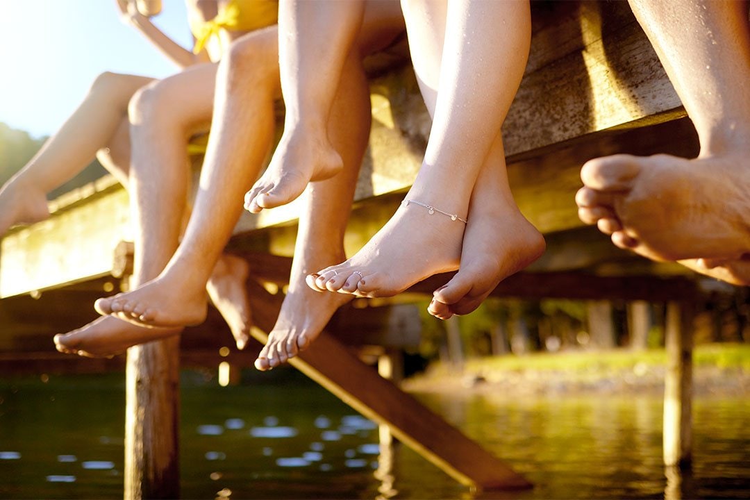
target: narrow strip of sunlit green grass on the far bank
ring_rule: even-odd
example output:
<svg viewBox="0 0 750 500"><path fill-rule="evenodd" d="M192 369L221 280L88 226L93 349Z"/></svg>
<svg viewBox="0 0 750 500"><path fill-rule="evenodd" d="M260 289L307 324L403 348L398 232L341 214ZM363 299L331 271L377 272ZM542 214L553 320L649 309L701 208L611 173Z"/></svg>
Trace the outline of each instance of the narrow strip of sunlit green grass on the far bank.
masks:
<svg viewBox="0 0 750 500"><path fill-rule="evenodd" d="M627 349L590 352L536 353L526 356L496 356L466 361L469 371L593 371L632 370L636 365L664 367L664 349L633 352ZM693 352L696 367L718 367L750 371L750 345L715 343L697 346Z"/></svg>

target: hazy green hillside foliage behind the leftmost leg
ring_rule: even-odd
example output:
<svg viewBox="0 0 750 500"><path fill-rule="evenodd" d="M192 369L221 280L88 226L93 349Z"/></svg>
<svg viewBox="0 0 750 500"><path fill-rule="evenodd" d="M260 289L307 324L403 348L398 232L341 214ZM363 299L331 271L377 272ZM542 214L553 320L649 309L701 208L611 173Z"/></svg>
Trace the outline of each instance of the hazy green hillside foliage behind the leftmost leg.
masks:
<svg viewBox="0 0 750 500"><path fill-rule="evenodd" d="M23 130L16 130L0 123L0 185L5 184L7 180L23 168L28 160L37 154L47 138L36 139ZM70 181L65 182L60 187L48 193L49 199L55 199L62 193L81 187L89 182L95 181L107 171L96 159L83 169L80 174L76 175Z"/></svg>

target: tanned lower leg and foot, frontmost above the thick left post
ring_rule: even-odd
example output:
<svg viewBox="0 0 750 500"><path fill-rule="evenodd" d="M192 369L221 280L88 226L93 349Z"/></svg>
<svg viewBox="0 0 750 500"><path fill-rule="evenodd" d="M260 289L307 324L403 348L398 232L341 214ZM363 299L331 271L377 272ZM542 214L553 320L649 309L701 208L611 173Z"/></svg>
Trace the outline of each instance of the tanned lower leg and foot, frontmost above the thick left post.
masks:
<svg viewBox="0 0 750 500"><path fill-rule="evenodd" d="M242 212L242 195L257 178L271 146L277 46L274 26L233 43L222 59L211 139L184 238L156 279L133 292L99 299L95 307L100 313L162 327L205 319L206 282ZM175 235L170 241L176 246Z"/></svg>

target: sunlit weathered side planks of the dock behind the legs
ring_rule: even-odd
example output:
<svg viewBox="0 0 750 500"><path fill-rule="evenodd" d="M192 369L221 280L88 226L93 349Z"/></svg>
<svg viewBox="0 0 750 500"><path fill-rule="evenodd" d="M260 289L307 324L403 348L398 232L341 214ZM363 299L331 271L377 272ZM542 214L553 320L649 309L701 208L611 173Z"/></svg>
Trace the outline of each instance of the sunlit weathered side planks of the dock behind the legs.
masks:
<svg viewBox="0 0 750 500"><path fill-rule="evenodd" d="M503 136L518 205L538 229L549 233L580 226L572 195L580 187L578 172L585 160L619 151L681 154L695 149L694 133L686 121L635 134L610 132L682 113L625 2L548 2L535 6L534 21L532 54ZM430 130L408 65L373 79L371 101L373 130L356 193L360 202L409 187ZM0 297L112 270L113 247L127 239L127 196L111 180L100 184L58 200L50 220L11 232L1 242ZM394 208L388 198L368 205L370 212L353 218L347 235L350 251L382 226ZM269 250L287 253L276 247L272 233L288 242L289 231L278 226L292 226L298 214L299 202L258 216L246 214L236 233L257 234L277 226L266 235Z"/></svg>

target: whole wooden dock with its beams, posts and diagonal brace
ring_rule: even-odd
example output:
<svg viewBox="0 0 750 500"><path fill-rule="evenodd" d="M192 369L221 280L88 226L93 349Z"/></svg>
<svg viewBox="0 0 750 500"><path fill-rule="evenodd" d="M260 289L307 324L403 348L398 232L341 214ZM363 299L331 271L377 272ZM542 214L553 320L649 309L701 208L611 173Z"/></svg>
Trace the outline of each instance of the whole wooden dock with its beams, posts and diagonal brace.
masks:
<svg viewBox="0 0 750 500"><path fill-rule="evenodd" d="M690 315L702 300L700 279L679 265L649 262L614 247L609 238L578 220L574 193L581 185L580 166L592 157L617 152L690 156L697 153L697 137L626 2L535 4L533 26L531 57L503 136L515 199L544 233L547 253L526 271L500 283L493 295L670 304L664 461L667 465L687 463L691 453ZM430 127L408 61L371 79L371 100L373 129L345 241L347 253L361 247L398 207L419 168ZM0 356L7 357L4 366L8 370L23 369L18 360L24 355L34 358L31 353L40 350L35 346L49 345L51 334L59 333L62 326L68 328L59 318L76 322L69 328L94 319L93 298L117 292L121 277L127 275L123 264L127 259L114 258L118 244L130 239L127 194L112 178L68 193L55 200L52 208L49 220L14 229L1 241L0 319L3 325L13 325L13 334L0 336ZM254 304L263 304L254 309L257 340L265 340L264 332L278 314L283 296L269 292L268 284L280 289L287 283L297 213L298 205L291 204L258 215L245 214L229 245L229 250L254 259L251 293ZM430 294L446 279L438 276L419 283L407 297ZM347 307L340 315L370 325L363 334L369 337L359 342L398 347L398 342L377 334L385 325L380 317L383 310L373 313L374 302L365 299L359 304L365 307ZM363 415L389 425L398 439L458 481L483 488L528 485L360 361L341 341L346 337L341 333L350 334L352 324L344 319L329 325L292 364ZM213 344L207 339L214 335L200 333L217 329L223 334ZM213 356L217 356L217 346L231 343L226 328L214 316L194 331L193 338L200 340L183 336L183 363L191 359L186 342L199 344L192 352L213 352ZM86 370L80 368L86 364L98 369L122 367L118 360L46 356L24 366L45 370L50 366ZM231 355L234 364L245 366L252 358ZM137 347L128 354L126 498L175 494L175 373L179 362L175 342ZM158 449L148 445L155 432L164 440Z"/></svg>

